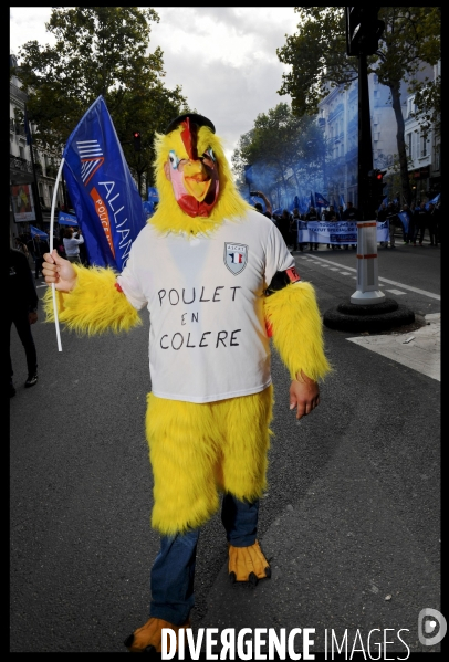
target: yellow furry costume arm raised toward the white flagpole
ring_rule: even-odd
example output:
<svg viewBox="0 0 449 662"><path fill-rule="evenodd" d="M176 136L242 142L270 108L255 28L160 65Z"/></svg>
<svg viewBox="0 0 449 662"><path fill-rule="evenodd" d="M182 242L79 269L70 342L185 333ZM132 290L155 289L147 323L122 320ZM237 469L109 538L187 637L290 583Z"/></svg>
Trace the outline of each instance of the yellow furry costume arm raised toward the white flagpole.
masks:
<svg viewBox="0 0 449 662"><path fill-rule="evenodd" d="M116 290L112 269L72 266L77 276L75 288L70 294L56 292L58 316L69 329L91 336L106 330L121 333L142 324L136 308ZM43 305L45 322L54 322L51 287L44 294Z"/></svg>

